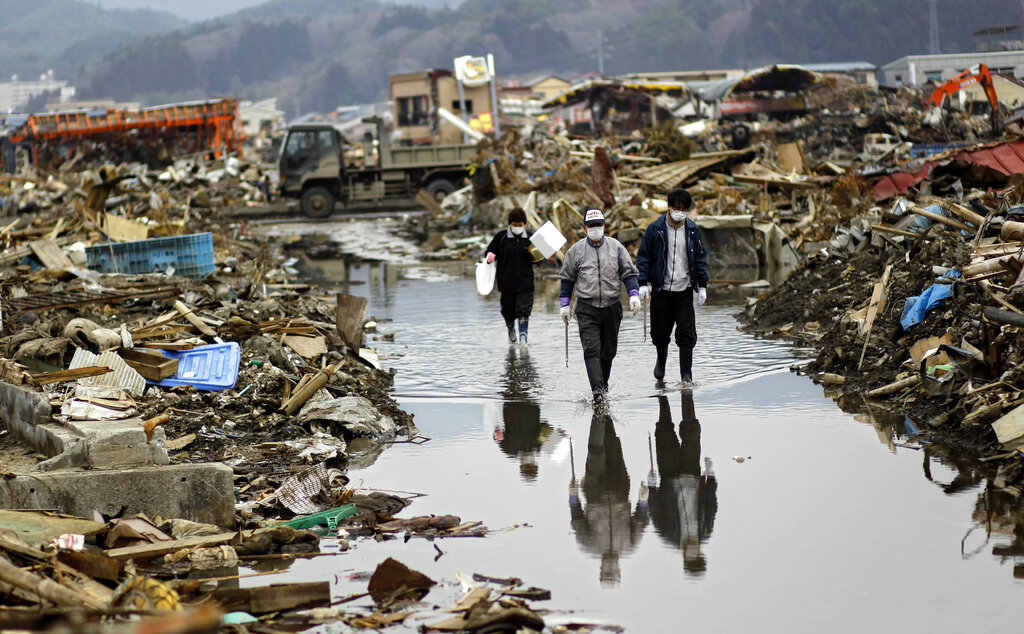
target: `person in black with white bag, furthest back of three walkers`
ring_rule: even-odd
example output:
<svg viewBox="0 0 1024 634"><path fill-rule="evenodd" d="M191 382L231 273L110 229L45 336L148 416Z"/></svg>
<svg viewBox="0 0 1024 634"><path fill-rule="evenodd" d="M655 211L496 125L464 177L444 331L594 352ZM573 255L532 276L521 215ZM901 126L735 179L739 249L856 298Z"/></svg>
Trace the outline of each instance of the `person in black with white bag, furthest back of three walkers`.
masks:
<svg viewBox="0 0 1024 634"><path fill-rule="evenodd" d="M529 254L526 212L515 207L509 212L509 225L495 235L487 245L487 262L496 262L495 281L502 294L502 316L509 330L509 343L516 342L515 321L519 320L519 343L526 343L529 313L534 311L534 258Z"/></svg>

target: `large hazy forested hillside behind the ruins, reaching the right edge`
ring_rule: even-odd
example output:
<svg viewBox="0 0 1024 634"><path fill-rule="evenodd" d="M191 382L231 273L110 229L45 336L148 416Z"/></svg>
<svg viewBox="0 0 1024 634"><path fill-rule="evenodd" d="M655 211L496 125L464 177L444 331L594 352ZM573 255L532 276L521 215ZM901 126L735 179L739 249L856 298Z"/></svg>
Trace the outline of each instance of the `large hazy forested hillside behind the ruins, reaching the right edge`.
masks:
<svg viewBox="0 0 1024 634"><path fill-rule="evenodd" d="M970 51L973 32L1021 13L1018 0L939 0L942 51ZM599 47L606 73L881 66L927 52L928 24L925 0L272 0L138 39L78 81L85 95L146 102L279 96L298 114L385 98L389 74L466 53L494 53L505 78L596 71Z"/></svg>

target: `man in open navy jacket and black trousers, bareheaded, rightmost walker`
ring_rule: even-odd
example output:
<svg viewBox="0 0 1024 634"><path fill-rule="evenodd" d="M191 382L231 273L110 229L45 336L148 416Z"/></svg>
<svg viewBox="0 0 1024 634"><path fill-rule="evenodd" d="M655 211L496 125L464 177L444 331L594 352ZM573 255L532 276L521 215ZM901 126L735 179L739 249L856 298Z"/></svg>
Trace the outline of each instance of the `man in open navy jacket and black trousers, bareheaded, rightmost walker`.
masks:
<svg viewBox="0 0 1024 634"><path fill-rule="evenodd" d="M673 327L679 346L679 377L683 383L693 381L693 346L697 343L693 295L696 291L701 305L708 299L708 251L700 229L686 217L691 202L686 189L670 192L669 212L647 226L637 251L640 298L650 297L650 340L657 351L657 381L665 378Z"/></svg>

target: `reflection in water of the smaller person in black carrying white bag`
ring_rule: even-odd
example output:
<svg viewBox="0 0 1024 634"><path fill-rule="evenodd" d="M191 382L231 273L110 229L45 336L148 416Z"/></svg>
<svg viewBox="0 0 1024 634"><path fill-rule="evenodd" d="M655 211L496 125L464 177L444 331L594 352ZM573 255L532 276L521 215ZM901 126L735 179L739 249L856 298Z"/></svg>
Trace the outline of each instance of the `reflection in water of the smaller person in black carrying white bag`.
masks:
<svg viewBox="0 0 1024 634"><path fill-rule="evenodd" d="M518 354L517 354L518 352ZM505 390L502 397L503 428L494 437L507 455L519 458L523 479L537 479L537 455L551 436L551 425L541 422L541 406L530 397L537 385L537 369L526 350L509 348L505 360Z"/></svg>

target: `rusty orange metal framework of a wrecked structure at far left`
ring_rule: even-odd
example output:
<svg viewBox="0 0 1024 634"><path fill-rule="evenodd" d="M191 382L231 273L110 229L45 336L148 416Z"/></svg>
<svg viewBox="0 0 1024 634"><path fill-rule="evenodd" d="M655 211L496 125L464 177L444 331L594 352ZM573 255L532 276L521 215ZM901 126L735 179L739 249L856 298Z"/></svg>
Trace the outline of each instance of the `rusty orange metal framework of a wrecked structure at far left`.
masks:
<svg viewBox="0 0 1024 634"><path fill-rule="evenodd" d="M139 111L108 110L104 113L70 112L30 115L10 136L13 143L71 140L101 134L124 134L133 130L173 133L194 130L193 152L221 156L242 154L245 129L238 101L230 98L156 105Z"/></svg>

